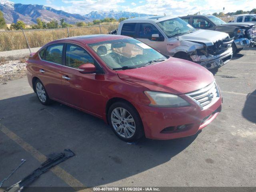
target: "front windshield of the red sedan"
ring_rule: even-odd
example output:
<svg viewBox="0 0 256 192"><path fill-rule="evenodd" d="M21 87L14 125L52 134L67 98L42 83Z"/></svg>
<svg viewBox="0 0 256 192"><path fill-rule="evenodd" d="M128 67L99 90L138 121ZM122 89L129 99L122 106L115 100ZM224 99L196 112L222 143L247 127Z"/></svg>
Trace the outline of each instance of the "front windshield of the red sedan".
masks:
<svg viewBox="0 0 256 192"><path fill-rule="evenodd" d="M111 69L146 66L166 57L133 38L110 40L89 45Z"/></svg>

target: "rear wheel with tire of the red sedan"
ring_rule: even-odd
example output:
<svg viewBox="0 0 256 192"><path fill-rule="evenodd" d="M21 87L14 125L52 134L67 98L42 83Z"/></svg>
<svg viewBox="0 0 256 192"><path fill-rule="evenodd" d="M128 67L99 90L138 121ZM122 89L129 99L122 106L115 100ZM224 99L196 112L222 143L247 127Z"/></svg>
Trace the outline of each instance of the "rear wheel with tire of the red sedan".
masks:
<svg viewBox="0 0 256 192"><path fill-rule="evenodd" d="M44 88L44 85L39 79L35 81L34 88L35 88L35 92L38 100L43 105L49 105L51 103L51 100L46 92L46 89Z"/></svg>

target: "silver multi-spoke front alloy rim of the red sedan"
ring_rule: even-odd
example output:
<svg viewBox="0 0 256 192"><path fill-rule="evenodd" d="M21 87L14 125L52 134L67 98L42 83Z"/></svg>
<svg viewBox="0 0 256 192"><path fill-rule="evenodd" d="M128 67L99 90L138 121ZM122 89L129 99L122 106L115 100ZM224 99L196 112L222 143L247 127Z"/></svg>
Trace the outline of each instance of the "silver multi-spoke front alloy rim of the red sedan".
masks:
<svg viewBox="0 0 256 192"><path fill-rule="evenodd" d="M118 107L111 112L111 123L116 131L123 138L131 138L136 130L134 118L126 109Z"/></svg>

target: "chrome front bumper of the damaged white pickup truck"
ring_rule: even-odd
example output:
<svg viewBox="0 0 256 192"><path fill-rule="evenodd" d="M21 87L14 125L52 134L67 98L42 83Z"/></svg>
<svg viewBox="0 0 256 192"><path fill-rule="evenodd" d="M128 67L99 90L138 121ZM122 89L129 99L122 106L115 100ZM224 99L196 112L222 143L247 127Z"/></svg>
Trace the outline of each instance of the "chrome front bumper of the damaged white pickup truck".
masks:
<svg viewBox="0 0 256 192"><path fill-rule="evenodd" d="M214 69L216 67L220 67L226 64L227 62L229 62L232 56L233 56L233 51L232 51L232 48L230 47L225 52L218 55L210 56L207 58L206 61L203 61L198 64L205 67L206 69Z"/></svg>

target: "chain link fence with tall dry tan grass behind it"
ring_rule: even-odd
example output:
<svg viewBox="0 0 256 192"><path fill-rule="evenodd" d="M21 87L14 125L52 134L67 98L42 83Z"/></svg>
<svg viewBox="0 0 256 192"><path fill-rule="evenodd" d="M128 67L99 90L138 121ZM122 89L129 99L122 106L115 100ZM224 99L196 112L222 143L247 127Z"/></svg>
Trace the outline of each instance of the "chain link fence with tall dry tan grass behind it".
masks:
<svg viewBox="0 0 256 192"><path fill-rule="evenodd" d="M0 31L0 52L41 47L50 41L72 36L108 34L108 32L116 28L118 28L118 25Z"/></svg>

